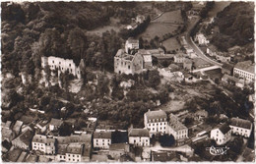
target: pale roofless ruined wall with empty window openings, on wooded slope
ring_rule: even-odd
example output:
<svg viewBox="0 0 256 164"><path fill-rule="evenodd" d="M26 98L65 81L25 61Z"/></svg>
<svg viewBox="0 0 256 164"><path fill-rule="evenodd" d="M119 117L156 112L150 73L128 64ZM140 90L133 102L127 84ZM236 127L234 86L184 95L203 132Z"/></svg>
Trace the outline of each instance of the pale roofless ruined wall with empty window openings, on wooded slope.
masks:
<svg viewBox="0 0 256 164"><path fill-rule="evenodd" d="M79 66L76 66L72 59L63 59L54 56L41 57L41 67L45 68L46 66L49 66L51 71L58 70L58 74L60 74L60 72L68 72L78 79L81 79L81 71L85 69L85 63L83 59L80 61Z"/></svg>

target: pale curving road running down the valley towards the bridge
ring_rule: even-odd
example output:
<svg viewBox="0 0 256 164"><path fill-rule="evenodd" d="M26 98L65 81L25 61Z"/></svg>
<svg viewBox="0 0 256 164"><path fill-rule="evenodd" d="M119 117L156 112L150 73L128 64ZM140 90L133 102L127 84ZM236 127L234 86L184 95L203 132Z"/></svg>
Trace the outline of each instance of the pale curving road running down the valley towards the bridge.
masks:
<svg viewBox="0 0 256 164"><path fill-rule="evenodd" d="M196 26L196 23L199 21L199 18L196 18L194 20L192 20L189 25L188 25L188 29L187 29L187 32L186 32L186 40L187 40L187 43L190 45L191 48L194 49L195 53L203 60L213 64L213 65L216 65L216 66L223 66L223 64L221 63L218 63L212 59L210 59L209 57L207 57L203 52L202 50L194 43L194 41L192 40L192 38L190 37L190 33L191 33L191 29L193 27Z"/></svg>

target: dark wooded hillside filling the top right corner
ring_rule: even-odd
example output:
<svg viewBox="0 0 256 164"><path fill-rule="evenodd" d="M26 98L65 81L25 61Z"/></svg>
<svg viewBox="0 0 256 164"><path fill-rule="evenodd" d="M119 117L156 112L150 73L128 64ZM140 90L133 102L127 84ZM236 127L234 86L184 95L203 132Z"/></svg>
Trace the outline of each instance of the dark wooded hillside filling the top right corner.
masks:
<svg viewBox="0 0 256 164"><path fill-rule="evenodd" d="M220 33L216 33L213 43L223 51L239 45L254 42L254 3L233 2L217 15L215 26ZM251 46L253 48L253 46ZM252 52L252 49L250 50Z"/></svg>

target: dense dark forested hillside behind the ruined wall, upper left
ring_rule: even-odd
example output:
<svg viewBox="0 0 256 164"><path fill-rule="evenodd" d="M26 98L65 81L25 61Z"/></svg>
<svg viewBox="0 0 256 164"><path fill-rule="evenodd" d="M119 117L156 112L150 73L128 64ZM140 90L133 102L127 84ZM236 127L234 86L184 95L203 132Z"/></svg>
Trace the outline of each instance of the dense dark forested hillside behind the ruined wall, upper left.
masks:
<svg viewBox="0 0 256 164"><path fill-rule="evenodd" d="M112 69L112 57L122 40L114 31L102 37L87 30L109 24L110 17L126 17L135 3L2 3L2 73L39 74L40 57L85 58L88 65ZM122 11L121 13L115 10ZM134 17L134 16L133 16ZM105 63L110 64L105 66ZM106 67L106 68L105 68Z"/></svg>

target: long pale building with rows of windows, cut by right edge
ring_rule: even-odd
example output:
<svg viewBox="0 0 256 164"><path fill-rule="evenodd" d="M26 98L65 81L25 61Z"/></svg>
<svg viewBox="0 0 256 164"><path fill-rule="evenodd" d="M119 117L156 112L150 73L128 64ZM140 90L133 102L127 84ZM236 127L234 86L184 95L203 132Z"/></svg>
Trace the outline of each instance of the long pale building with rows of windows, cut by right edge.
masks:
<svg viewBox="0 0 256 164"><path fill-rule="evenodd" d="M238 75L246 82L254 82L254 66L251 61L239 62L233 68L233 75Z"/></svg>

